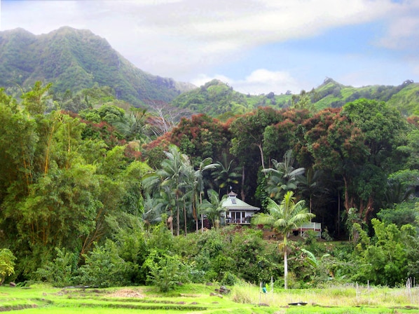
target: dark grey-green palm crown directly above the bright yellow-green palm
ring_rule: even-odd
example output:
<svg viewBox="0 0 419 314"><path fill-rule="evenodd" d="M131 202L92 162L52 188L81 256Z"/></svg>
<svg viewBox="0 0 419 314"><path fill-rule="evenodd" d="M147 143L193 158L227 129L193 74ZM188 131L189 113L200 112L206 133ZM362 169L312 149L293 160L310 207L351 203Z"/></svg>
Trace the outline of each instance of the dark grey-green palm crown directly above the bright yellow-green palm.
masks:
<svg viewBox="0 0 419 314"><path fill-rule="evenodd" d="M289 149L284 154L284 162L280 163L275 159L272 160L275 168L263 169L267 177L266 191L270 194L270 198L282 200L284 194L289 190L297 189L303 179L304 168L294 168L294 158L292 151Z"/></svg>

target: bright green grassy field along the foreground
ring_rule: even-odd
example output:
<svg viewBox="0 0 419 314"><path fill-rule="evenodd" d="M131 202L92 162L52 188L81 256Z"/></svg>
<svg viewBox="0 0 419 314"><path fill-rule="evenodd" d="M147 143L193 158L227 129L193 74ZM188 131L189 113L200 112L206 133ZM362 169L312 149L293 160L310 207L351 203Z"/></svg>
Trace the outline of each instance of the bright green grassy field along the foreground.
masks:
<svg viewBox="0 0 419 314"><path fill-rule="evenodd" d="M167 294L153 287L109 289L0 287L0 311L18 313L419 313L419 289L340 287L275 289L238 285L221 295L217 286L184 285ZM306 303L290 305L290 303Z"/></svg>

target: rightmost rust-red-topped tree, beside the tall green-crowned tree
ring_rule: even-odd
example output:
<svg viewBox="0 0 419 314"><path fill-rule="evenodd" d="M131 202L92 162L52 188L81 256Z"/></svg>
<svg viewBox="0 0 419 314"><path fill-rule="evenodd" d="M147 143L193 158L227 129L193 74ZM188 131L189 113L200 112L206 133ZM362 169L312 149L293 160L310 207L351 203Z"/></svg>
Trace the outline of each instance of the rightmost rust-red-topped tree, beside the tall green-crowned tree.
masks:
<svg viewBox="0 0 419 314"><path fill-rule="evenodd" d="M341 198L340 191L344 191L342 199L348 213L355 198L350 193L352 182L367 155L364 134L347 116L341 115L341 109L324 109L306 119L302 126L304 132L299 135L298 161L306 168L322 170L334 178L329 189L335 189L336 184L343 182L344 188L338 189L338 198Z"/></svg>

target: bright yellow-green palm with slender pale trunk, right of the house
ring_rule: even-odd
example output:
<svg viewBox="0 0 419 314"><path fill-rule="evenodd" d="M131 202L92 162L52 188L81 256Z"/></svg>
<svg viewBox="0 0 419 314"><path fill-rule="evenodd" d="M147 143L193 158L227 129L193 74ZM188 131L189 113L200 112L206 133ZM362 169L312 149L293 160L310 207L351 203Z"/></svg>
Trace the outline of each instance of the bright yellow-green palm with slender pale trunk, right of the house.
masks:
<svg viewBox="0 0 419 314"><path fill-rule="evenodd" d="M305 201L299 200L295 203L293 191L287 191L280 204L269 198L269 213L255 214L252 218L253 224L266 224L271 226L274 231L282 234L284 241L279 245L279 249L284 252L284 288L287 289L288 261L287 261L287 238L293 229L299 228L302 224L310 221L315 214L308 212Z"/></svg>

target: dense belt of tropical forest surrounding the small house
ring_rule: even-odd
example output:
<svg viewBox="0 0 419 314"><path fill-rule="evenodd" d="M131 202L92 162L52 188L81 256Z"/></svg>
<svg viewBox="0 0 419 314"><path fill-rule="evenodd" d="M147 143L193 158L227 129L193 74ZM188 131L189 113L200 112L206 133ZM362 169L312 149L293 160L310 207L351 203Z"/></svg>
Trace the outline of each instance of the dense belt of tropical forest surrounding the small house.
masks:
<svg viewBox="0 0 419 314"><path fill-rule="evenodd" d="M207 93L213 84L237 96L217 82ZM418 116L360 99L170 125L123 109L107 88L85 90L97 105L64 111L50 88L37 82L20 100L0 92L0 259L12 267L3 280L166 291L271 276L288 287L419 277ZM261 219L226 226L231 190ZM296 216L275 224L284 206ZM308 232L280 252L296 217L321 223L322 240Z"/></svg>

